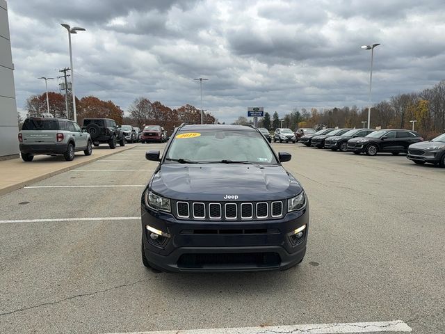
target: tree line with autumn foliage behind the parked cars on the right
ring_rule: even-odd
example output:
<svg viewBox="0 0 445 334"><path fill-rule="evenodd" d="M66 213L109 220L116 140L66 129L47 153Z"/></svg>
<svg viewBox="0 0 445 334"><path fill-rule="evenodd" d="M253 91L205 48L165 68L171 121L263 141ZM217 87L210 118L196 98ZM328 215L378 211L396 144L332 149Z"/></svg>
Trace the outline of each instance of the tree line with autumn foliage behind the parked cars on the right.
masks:
<svg viewBox="0 0 445 334"><path fill-rule="evenodd" d="M368 109L357 106L343 106L320 111L316 108L307 110L293 109L282 118L282 127L296 131L299 127L363 127L362 121L368 120ZM440 81L432 88L419 93L405 93L390 97L371 107L371 126L386 128L412 129L410 120L416 120L414 129L426 138L432 138L445 132L445 81ZM244 116L234 124L252 124ZM275 111L266 112L259 120L259 127L275 130L281 127L280 117Z"/></svg>

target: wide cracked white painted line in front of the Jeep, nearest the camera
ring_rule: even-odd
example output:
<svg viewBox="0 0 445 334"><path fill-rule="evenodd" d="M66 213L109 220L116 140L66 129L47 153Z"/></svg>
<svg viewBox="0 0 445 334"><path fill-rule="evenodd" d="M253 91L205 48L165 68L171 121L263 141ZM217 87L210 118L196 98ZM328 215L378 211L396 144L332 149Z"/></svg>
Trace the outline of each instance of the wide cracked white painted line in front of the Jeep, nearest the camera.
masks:
<svg viewBox="0 0 445 334"><path fill-rule="evenodd" d="M186 331L152 331L109 334L273 334L273 333L382 333L411 332L410 326L401 320L378 322L352 322L347 324L312 324L292 326L265 326L240 328L191 329Z"/></svg>

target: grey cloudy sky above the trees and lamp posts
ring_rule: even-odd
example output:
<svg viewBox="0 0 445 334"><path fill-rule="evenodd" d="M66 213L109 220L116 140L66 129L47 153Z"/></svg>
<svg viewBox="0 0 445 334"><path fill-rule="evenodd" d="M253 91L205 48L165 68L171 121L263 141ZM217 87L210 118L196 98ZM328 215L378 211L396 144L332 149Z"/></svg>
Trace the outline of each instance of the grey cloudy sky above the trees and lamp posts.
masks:
<svg viewBox="0 0 445 334"><path fill-rule="evenodd" d="M127 110L140 96L200 106L232 122L248 106L365 106L445 79L443 0L9 0L17 106L42 93L37 77L69 66L76 95ZM56 81L49 88L57 90Z"/></svg>

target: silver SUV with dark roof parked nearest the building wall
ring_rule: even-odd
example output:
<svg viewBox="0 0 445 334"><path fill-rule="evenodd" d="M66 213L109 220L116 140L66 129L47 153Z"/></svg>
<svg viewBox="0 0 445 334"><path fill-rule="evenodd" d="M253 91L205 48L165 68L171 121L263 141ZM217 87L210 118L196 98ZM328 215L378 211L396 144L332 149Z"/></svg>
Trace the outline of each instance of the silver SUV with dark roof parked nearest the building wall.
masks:
<svg viewBox="0 0 445 334"><path fill-rule="evenodd" d="M90 134L67 118L26 118L19 146L24 161L33 161L36 154L61 154L72 161L76 151L92 153Z"/></svg>

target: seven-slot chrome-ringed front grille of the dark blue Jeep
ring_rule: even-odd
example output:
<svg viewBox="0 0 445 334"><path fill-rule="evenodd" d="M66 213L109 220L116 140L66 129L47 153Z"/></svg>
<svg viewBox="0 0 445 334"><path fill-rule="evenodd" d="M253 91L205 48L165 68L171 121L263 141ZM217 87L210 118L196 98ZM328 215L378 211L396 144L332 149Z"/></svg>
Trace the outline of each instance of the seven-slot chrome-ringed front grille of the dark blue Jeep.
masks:
<svg viewBox="0 0 445 334"><path fill-rule="evenodd" d="M212 221L247 221L277 219L284 216L283 201L270 202L176 202L179 219L209 219Z"/></svg>

